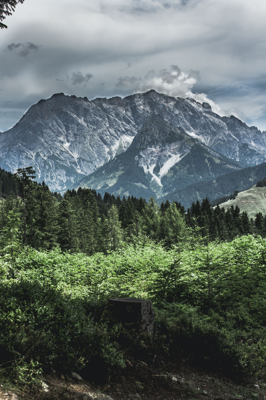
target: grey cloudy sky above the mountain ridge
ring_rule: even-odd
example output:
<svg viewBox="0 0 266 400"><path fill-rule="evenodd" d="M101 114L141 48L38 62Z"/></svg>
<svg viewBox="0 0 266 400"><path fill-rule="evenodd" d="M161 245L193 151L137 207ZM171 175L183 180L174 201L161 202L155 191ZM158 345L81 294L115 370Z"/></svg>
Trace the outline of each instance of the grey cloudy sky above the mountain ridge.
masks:
<svg viewBox="0 0 266 400"><path fill-rule="evenodd" d="M0 131L54 93L155 89L266 130L263 0L25 0L0 30Z"/></svg>

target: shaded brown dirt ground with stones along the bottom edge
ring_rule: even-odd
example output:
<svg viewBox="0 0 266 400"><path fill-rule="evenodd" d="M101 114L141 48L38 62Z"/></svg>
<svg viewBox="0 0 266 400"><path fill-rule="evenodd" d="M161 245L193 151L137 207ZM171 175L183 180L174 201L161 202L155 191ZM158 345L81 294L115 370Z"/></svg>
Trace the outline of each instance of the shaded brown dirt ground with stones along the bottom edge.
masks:
<svg viewBox="0 0 266 400"><path fill-rule="evenodd" d="M113 400L266 400L266 382L232 382L221 374L212 374L189 366L157 360L150 365L128 361L123 374L96 385L72 376L47 375L48 392L26 393L8 386L0 387L0 400L74 400L78 392L109 395ZM12 398L13 396L13 398Z"/></svg>

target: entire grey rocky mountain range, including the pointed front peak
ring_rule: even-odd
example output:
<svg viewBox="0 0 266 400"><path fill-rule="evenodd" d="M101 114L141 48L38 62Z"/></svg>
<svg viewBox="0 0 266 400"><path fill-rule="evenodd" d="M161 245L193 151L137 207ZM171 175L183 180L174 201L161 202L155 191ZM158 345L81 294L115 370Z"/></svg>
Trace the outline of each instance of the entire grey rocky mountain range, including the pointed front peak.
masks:
<svg viewBox="0 0 266 400"><path fill-rule="evenodd" d="M221 117L206 102L154 90L94 100L54 94L0 133L0 168L33 166L40 182L60 192L82 186L179 201L179 193L217 187L222 176L242 173L244 186L256 183L266 175L265 161L266 132ZM247 167L260 165L247 178ZM222 186L212 198L232 192ZM205 197L204 189L194 192Z"/></svg>

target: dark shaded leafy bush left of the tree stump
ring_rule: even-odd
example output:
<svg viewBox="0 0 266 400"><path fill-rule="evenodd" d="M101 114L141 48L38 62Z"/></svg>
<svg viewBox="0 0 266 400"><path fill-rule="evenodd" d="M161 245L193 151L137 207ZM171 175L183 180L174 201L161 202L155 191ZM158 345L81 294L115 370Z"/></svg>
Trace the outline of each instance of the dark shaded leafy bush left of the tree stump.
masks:
<svg viewBox="0 0 266 400"><path fill-rule="evenodd" d="M0 372L85 370L109 373L124 366L108 326L95 322L85 300L39 283L0 285ZM24 369L23 369L24 368ZM28 373L27 373L28 376Z"/></svg>

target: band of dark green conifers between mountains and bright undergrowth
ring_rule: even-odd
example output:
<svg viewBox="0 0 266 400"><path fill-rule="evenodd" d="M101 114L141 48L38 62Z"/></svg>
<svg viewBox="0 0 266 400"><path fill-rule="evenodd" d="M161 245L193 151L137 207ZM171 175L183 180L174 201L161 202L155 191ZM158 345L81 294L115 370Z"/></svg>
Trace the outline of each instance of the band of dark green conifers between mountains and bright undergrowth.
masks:
<svg viewBox="0 0 266 400"><path fill-rule="evenodd" d="M266 234L266 220L257 213L250 220L232 206L214 210L207 198L192 202L185 208L168 200L160 205L150 198L104 197L95 190L67 190L62 197L50 192L43 182L30 178L31 169L24 170L16 179L7 174L7 188L14 187L0 204L0 238L2 245L14 241L39 250L61 250L94 254L121 248L123 242L134 243L144 237L162 241L166 247L185 242L193 234L209 241L230 241L238 235ZM3 174L4 176L4 174ZM8 190L6 191L8 193ZM4 235L5 233L5 235ZM14 236L15 235L15 236Z"/></svg>

